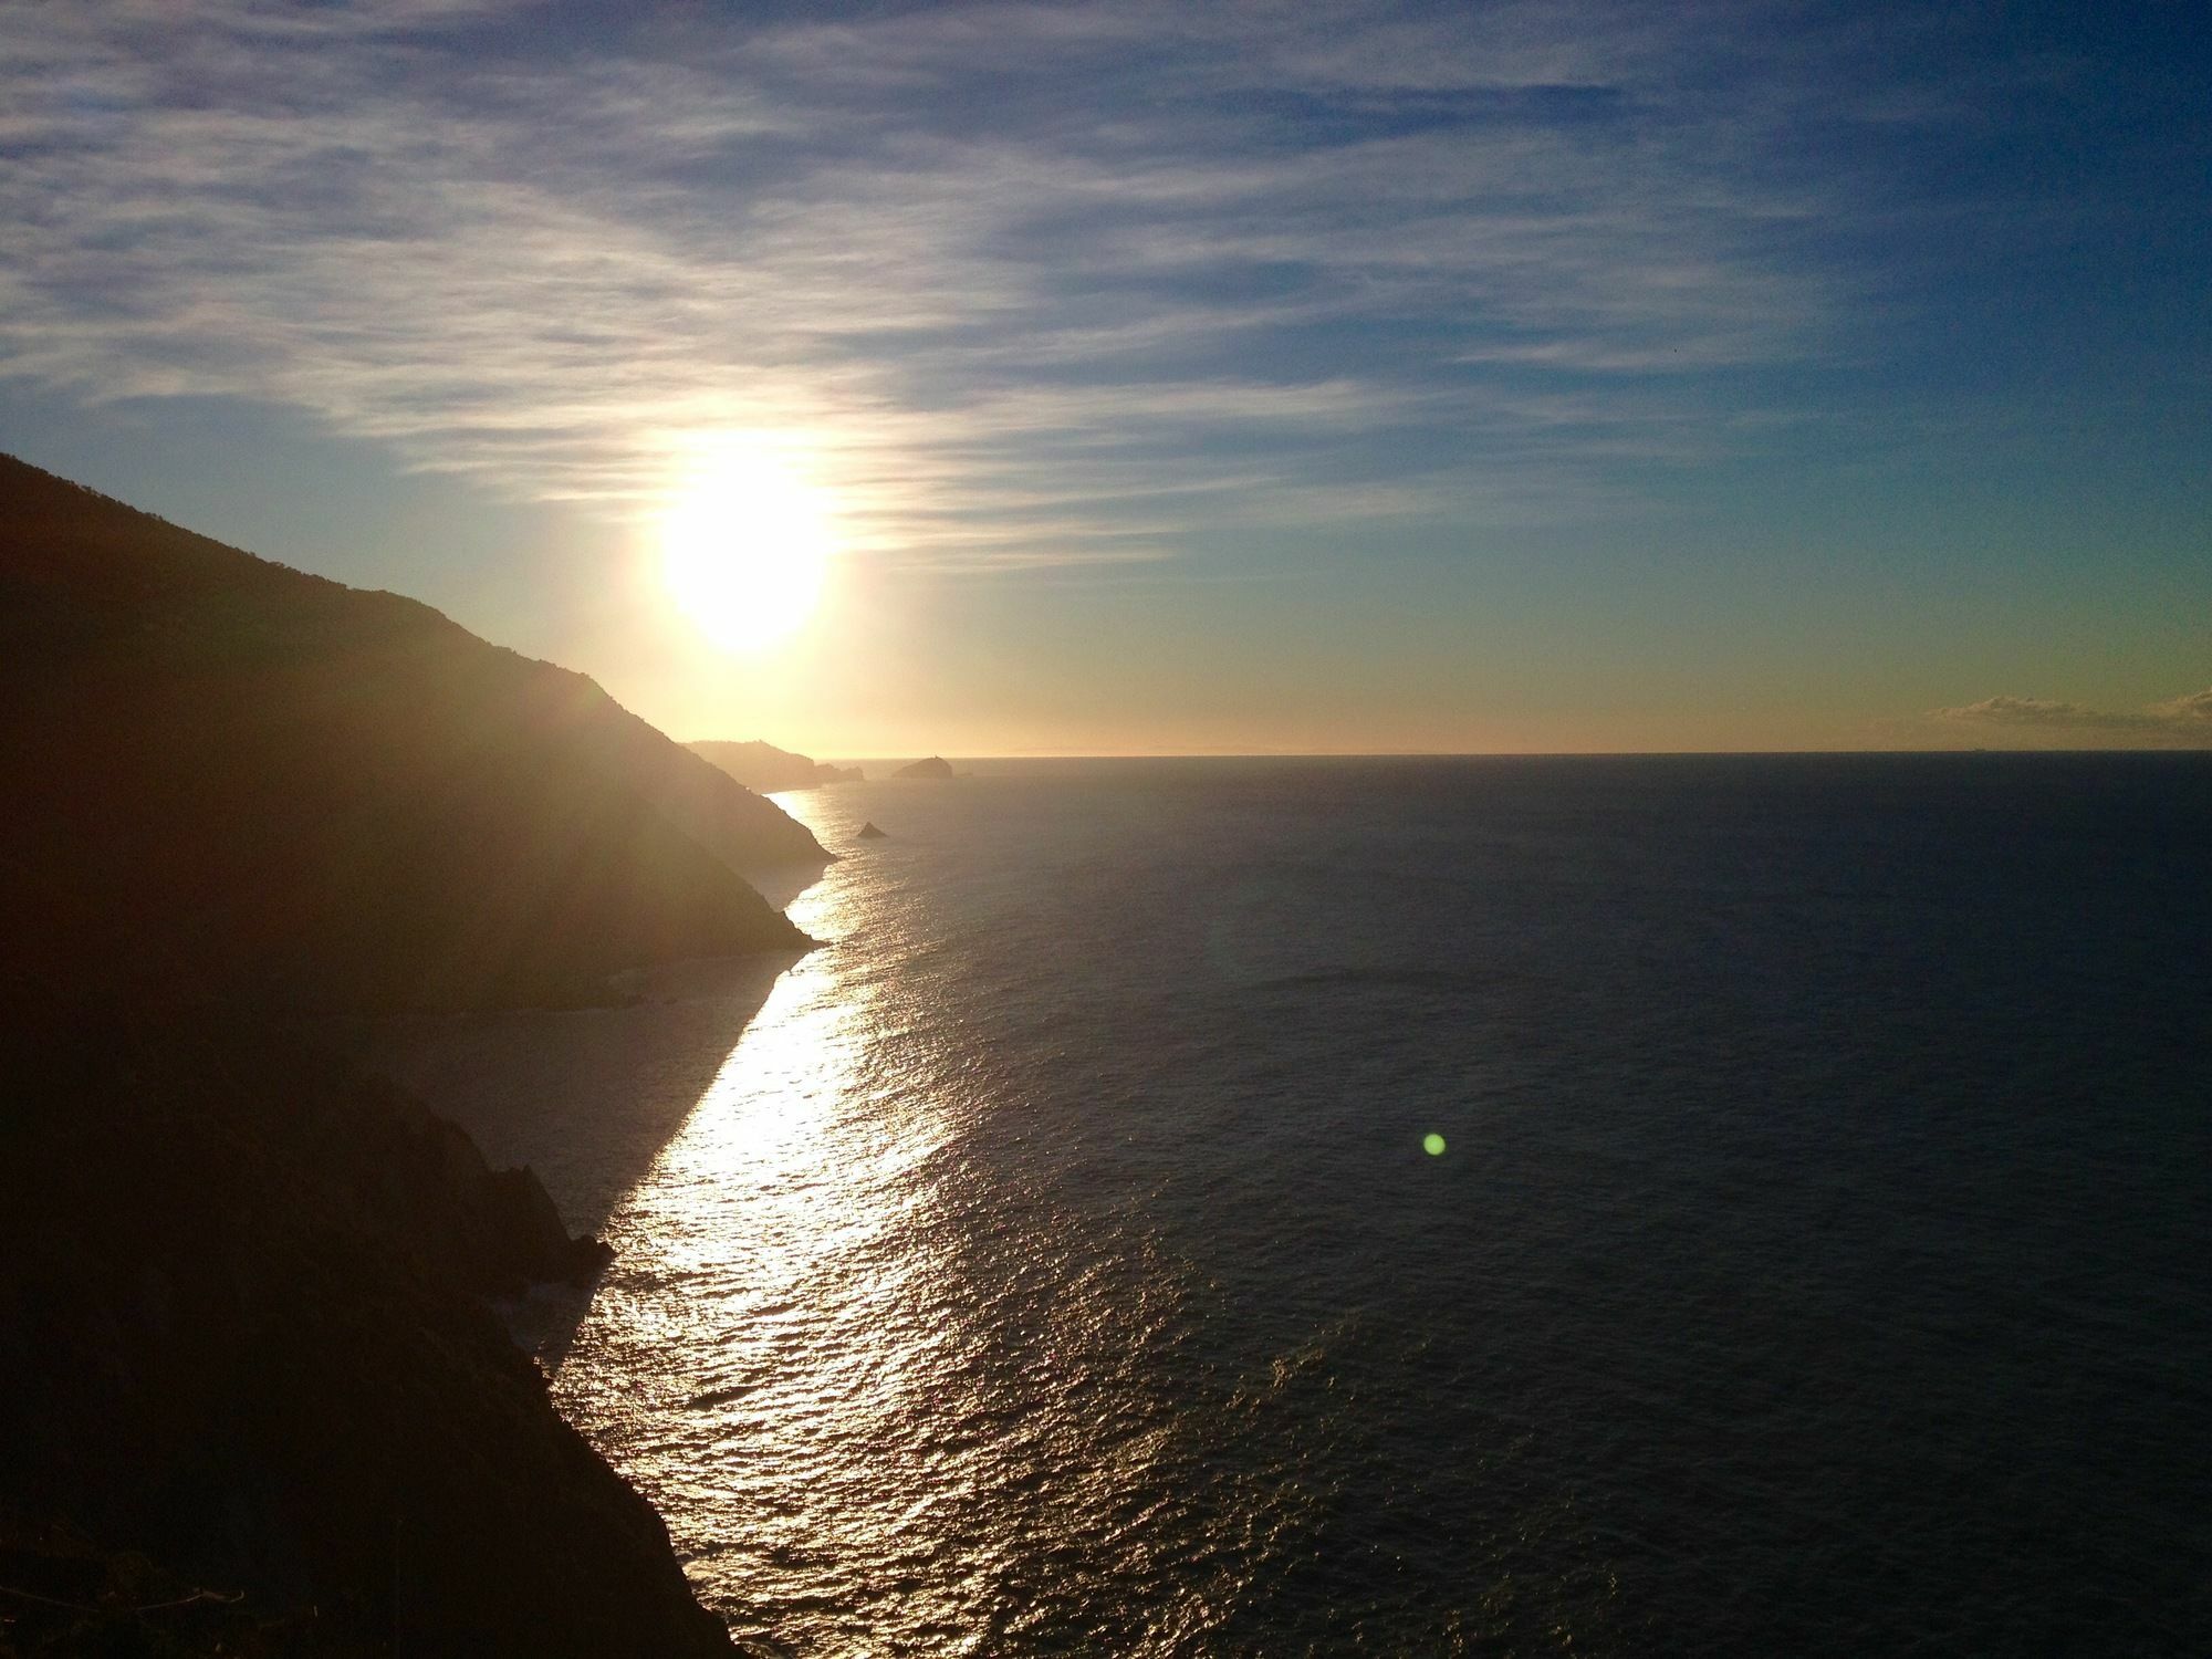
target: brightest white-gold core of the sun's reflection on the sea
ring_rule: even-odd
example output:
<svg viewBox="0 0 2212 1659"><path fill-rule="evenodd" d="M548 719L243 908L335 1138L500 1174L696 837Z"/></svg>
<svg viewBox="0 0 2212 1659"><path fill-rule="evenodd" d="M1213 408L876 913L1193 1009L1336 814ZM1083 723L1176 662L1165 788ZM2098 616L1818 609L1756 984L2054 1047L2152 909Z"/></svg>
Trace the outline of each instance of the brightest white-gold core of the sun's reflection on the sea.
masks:
<svg viewBox="0 0 2212 1659"><path fill-rule="evenodd" d="M869 1564L927 1624L925 1586L949 1577L927 1513L975 1478L918 1442L922 1394L960 1369L929 1177L947 1130L927 1088L885 1082L918 1071L898 1051L920 1009L872 967L896 951L860 949L872 880L845 860L790 905L827 942L611 1217L617 1265L555 1396L670 1517L710 1604L714 1584L796 1579L858 1610L887 1586L843 1571Z"/></svg>

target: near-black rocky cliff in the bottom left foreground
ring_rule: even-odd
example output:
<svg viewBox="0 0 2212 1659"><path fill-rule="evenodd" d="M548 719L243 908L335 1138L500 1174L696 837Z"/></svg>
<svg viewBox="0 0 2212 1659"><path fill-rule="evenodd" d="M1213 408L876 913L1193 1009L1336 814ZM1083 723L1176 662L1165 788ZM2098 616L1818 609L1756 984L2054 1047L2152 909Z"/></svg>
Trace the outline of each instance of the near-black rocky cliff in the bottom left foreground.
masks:
<svg viewBox="0 0 2212 1659"><path fill-rule="evenodd" d="M730 1650L482 1303L597 1265L535 1177L252 1024L7 1066L0 1652Z"/></svg>

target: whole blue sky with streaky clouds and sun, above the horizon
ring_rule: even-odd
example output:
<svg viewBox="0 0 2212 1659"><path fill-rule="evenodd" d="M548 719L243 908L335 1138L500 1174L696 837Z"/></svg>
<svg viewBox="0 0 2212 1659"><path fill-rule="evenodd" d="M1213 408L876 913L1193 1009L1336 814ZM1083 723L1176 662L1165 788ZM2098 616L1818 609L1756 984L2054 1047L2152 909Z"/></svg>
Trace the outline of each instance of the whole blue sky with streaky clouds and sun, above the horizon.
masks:
<svg viewBox="0 0 2212 1659"><path fill-rule="evenodd" d="M2208 88L2197 0L9 4L0 449L684 739L2212 745Z"/></svg>

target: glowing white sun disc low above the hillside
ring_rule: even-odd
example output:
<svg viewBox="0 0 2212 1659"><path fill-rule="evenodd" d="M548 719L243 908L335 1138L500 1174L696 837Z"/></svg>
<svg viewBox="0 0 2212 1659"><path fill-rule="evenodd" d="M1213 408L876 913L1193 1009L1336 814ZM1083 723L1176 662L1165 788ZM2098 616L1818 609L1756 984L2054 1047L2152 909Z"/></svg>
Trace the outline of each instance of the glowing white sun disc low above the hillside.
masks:
<svg viewBox="0 0 2212 1659"><path fill-rule="evenodd" d="M827 495L765 445L717 449L661 515L661 580L730 653L794 635L821 602L834 551Z"/></svg>

